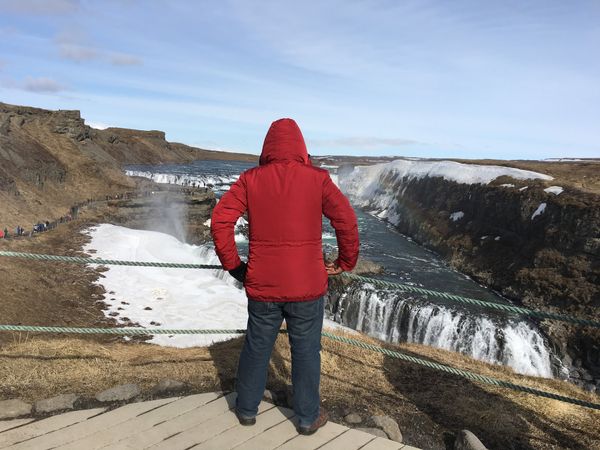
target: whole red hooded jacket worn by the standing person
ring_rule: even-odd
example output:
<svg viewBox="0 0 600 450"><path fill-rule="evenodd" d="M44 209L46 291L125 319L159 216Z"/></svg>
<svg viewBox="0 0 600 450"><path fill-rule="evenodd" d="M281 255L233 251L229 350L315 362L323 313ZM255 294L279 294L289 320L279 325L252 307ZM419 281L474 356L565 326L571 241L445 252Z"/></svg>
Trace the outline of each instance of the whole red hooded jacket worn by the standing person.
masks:
<svg viewBox="0 0 600 450"><path fill-rule="evenodd" d="M225 270L241 264L234 240L248 212L250 245L244 287L248 298L308 301L327 292L322 215L335 229L344 270L358 259L356 215L329 172L313 167L292 119L271 124L260 164L243 172L213 210L211 234Z"/></svg>

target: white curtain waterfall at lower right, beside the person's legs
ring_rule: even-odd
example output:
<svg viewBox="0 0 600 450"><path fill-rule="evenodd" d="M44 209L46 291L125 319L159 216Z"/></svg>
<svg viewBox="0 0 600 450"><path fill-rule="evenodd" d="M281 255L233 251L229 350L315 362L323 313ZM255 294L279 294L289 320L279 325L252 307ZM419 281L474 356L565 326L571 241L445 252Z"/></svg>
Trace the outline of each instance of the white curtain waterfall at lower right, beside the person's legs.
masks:
<svg viewBox="0 0 600 450"><path fill-rule="evenodd" d="M553 376L546 341L526 322L430 303L368 283L352 283L341 293L332 289L327 302L333 320L384 341L430 345L525 375Z"/></svg>

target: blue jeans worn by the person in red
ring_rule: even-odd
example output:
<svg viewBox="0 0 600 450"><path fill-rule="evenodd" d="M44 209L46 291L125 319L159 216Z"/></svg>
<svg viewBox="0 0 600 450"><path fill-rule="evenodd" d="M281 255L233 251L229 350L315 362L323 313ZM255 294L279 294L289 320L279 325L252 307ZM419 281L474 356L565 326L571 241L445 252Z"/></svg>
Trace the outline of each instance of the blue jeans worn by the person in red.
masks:
<svg viewBox="0 0 600 450"><path fill-rule="evenodd" d="M324 300L307 302L259 302L248 299L248 331L237 373L236 410L254 417L267 382L273 344L283 319L292 350L294 412L300 426L319 416L321 381L321 330Z"/></svg>

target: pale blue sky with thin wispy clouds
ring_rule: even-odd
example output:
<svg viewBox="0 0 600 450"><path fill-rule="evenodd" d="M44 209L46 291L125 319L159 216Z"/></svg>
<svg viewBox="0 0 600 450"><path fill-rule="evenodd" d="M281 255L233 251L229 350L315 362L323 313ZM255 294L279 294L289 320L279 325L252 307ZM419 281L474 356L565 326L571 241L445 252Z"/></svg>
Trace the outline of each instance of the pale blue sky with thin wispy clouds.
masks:
<svg viewBox="0 0 600 450"><path fill-rule="evenodd" d="M259 153L600 157L600 2L0 0L0 100Z"/></svg>

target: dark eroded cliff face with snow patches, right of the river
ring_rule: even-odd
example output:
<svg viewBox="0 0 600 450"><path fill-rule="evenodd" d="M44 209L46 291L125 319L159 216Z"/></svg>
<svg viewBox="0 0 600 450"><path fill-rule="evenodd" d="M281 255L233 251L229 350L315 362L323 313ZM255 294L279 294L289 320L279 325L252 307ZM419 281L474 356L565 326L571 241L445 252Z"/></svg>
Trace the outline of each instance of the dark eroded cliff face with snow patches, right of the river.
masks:
<svg viewBox="0 0 600 450"><path fill-rule="evenodd" d="M600 167L600 164L598 165ZM600 197L558 180L459 183L441 176L383 172L366 189L342 168L342 189L358 204L436 251L457 270L528 307L600 318ZM547 189L545 191L544 189ZM573 381L600 379L598 330L544 321ZM600 383L598 383L600 389Z"/></svg>

